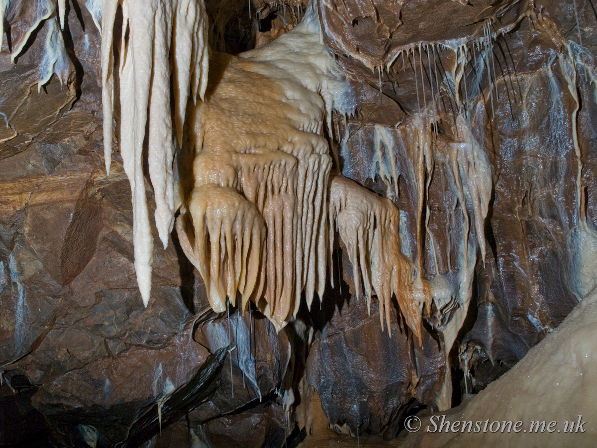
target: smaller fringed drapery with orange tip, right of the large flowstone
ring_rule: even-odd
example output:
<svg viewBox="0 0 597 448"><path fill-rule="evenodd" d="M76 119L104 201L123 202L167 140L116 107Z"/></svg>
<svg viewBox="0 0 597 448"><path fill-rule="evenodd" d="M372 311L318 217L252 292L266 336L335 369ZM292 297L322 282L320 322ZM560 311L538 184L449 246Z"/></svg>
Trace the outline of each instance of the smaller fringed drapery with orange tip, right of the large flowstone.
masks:
<svg viewBox="0 0 597 448"><path fill-rule="evenodd" d="M408 326L421 340L421 308L413 294L416 269L400 251L399 219L398 207L389 199L343 176L331 180L330 220L352 263L356 296L361 296L362 282L370 309L372 291L376 292L381 326L385 316L391 334L390 310L395 294ZM420 280L419 284L426 282Z"/></svg>

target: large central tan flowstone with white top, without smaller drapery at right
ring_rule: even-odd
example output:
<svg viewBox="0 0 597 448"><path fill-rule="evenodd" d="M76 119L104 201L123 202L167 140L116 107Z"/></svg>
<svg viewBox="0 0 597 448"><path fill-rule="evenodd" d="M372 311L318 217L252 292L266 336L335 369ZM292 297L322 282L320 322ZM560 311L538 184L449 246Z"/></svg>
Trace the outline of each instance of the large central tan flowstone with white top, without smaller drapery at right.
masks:
<svg viewBox="0 0 597 448"><path fill-rule="evenodd" d="M331 108L351 112L352 93L325 52L312 14L292 32L259 50L239 57L214 54L210 76L217 84L210 84L209 99L195 108L190 119L189 146L197 154L194 189L177 228L195 232L188 238L195 244L191 259L211 254L209 272L201 261L196 266L210 284L210 301L216 309L222 309L226 297L234 304L238 287L243 309L253 297L281 328L298 311L303 290L310 306L314 294L321 297L325 288L325 204L332 158L324 125ZM238 192L239 200L253 204L257 215L245 206L238 213L239 205L234 201L230 205L230 189ZM209 210L230 213L233 219L224 228L245 228L241 233L248 240L242 246L233 245L236 250L217 250L219 224L204 226L205 216L197 215ZM259 235L246 228L257 223L257 217L264 225ZM194 229L184 223L189 219ZM222 247L229 239L224 234ZM256 244L262 238L264 250L258 250ZM251 255L245 258L241 247L251 247ZM219 262L214 254L220 254ZM230 270L235 265L228 261L230 256L244 271ZM251 272L250 280L244 281L242 275ZM238 275L241 281L235 285Z"/></svg>

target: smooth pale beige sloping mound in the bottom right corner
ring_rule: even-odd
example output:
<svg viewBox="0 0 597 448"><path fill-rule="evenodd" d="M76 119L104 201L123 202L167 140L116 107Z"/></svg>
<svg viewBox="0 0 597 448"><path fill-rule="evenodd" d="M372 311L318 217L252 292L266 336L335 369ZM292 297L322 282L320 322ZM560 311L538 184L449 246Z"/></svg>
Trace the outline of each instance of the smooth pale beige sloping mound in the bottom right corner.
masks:
<svg viewBox="0 0 597 448"><path fill-rule="evenodd" d="M428 416L423 426L401 447L589 447L597 444L597 293L590 292L567 318L509 372L469 403L444 416L444 422L472 421L464 431L439 434L442 417L434 426ZM578 418L584 425L578 426ZM489 419L487 431L483 431ZM481 429L475 432L476 421ZM501 432L501 422L522 422L518 431ZM531 422L546 422L537 432ZM491 422L500 429L491 432ZM550 422L555 422L549 426ZM568 424L566 424L568 422ZM571 429L571 423L574 426ZM427 426L430 431L427 432ZM462 426L462 424L455 425ZM541 431L543 427L543 431ZM493 429L497 428L497 423ZM548 429L549 428L549 431ZM568 432L564 432L568 429ZM584 429L584 432L582 431Z"/></svg>

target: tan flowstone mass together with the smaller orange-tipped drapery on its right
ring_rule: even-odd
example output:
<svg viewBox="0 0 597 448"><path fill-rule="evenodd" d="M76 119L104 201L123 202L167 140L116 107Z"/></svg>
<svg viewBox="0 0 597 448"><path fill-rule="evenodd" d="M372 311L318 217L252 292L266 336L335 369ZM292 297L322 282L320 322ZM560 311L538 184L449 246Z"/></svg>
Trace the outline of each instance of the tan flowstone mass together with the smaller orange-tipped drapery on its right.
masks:
<svg viewBox="0 0 597 448"><path fill-rule="evenodd" d="M375 292L388 322L396 294L420 337L398 208L336 176L328 210L332 157L324 123L330 131L332 105L342 107L346 88L335 68L309 17L259 50L214 54L206 100L189 112L186 149L196 157L192 191L181 183L180 197L188 198L177 223L182 247L214 310L226 309L226 297L234 305L238 290L243 310L253 298L281 328L296 315L303 291L308 306L315 293L321 299L336 222L358 294L362 279L368 303Z"/></svg>

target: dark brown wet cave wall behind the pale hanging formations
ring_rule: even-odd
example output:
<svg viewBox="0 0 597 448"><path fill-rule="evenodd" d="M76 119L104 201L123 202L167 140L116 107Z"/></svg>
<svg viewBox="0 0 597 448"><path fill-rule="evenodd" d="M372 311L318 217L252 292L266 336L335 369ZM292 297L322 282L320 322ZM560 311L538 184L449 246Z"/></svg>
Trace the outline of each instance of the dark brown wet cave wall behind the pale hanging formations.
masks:
<svg viewBox="0 0 597 448"><path fill-rule="evenodd" d="M421 340L395 300L382 331L341 240L334 287L278 333L254 308L210 311L176 232L144 308L118 125L104 169L100 33L84 2L64 30L32 3L10 2L0 53L0 446L291 446L319 400L332 426L395 438L509 370L597 284L590 2L578 29L573 1L316 2L356 92L333 117L337 168L400 210L432 291ZM235 53L307 5L206 7L212 47ZM52 32L67 59L38 91Z"/></svg>

